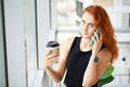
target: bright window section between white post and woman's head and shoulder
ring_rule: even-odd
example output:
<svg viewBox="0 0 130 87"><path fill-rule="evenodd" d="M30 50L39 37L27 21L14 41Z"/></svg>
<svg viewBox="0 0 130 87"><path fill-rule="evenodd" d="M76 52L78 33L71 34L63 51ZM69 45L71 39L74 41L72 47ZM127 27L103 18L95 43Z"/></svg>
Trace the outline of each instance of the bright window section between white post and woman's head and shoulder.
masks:
<svg viewBox="0 0 130 87"><path fill-rule="evenodd" d="M82 2L78 0L57 0L57 40L61 42L67 37L79 36L79 23L82 12Z"/></svg>

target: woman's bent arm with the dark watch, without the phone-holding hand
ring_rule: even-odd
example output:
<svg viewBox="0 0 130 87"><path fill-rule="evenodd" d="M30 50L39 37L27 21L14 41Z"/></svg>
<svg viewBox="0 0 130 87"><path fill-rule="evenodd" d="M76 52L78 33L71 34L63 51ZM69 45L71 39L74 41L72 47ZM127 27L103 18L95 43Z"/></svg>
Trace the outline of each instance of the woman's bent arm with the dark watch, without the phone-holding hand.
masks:
<svg viewBox="0 0 130 87"><path fill-rule="evenodd" d="M100 78L100 76L104 73L105 69L108 66L108 63L112 59L112 53L104 48L98 55L100 59L99 62L94 62L95 55L90 58L90 62L84 72L82 86L83 87L92 87L95 85Z"/></svg>

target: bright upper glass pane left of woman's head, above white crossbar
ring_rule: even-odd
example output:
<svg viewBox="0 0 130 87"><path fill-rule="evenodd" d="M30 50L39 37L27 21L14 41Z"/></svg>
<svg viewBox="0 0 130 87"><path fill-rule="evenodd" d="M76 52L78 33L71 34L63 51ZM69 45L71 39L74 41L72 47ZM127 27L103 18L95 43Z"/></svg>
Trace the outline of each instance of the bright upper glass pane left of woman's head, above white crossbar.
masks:
<svg viewBox="0 0 130 87"><path fill-rule="evenodd" d="M57 25L76 26L76 1L75 0L57 0Z"/></svg>

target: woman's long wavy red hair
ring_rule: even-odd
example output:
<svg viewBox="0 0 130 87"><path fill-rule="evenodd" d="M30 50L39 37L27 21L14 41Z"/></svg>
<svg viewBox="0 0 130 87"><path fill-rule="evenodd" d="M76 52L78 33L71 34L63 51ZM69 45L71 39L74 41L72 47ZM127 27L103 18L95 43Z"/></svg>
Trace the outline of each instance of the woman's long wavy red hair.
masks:
<svg viewBox="0 0 130 87"><path fill-rule="evenodd" d="M100 28L105 48L112 52L113 62L118 58L118 47L114 35L114 28L107 12L100 5L89 5L84 8L82 14L86 12L89 12L94 16L95 26Z"/></svg>

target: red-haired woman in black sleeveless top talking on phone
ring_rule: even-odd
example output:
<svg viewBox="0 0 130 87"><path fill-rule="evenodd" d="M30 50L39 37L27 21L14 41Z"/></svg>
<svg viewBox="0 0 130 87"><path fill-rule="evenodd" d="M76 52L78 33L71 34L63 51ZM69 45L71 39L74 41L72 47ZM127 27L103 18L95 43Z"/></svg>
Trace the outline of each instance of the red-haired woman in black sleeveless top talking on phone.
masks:
<svg viewBox="0 0 130 87"><path fill-rule="evenodd" d="M55 82L61 82L66 71L66 87L98 87L100 76L118 57L114 28L106 11L100 5L83 10L80 27L81 37L68 38L61 45L57 69L49 66L57 60L49 53L44 55L43 66ZM95 33L98 28L100 34ZM91 45L91 39L94 45Z"/></svg>

